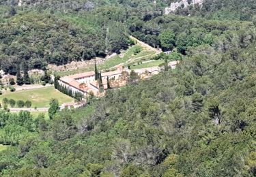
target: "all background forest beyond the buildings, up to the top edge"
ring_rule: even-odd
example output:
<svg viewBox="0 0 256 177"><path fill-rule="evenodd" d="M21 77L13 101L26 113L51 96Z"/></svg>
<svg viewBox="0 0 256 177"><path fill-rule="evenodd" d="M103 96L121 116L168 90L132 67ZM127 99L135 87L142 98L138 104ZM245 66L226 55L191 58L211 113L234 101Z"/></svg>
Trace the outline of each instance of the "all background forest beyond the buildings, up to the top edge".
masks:
<svg viewBox="0 0 256 177"><path fill-rule="evenodd" d="M187 46L195 46L193 41L189 42L194 39L192 35L201 38L196 43L212 44L214 35L230 30L225 22L207 24L196 18L162 16L171 2L0 1L1 69L15 75L20 66L12 63L28 61L31 69L44 69L49 63L63 65L119 53L132 44L128 34L154 47L170 50L175 42L171 46L161 45L163 37L159 36L161 32L172 35L170 30L175 34L177 50L185 54ZM253 1L204 1L201 8L180 8L175 14L203 16L209 20L256 20ZM208 29L208 26L212 27Z"/></svg>

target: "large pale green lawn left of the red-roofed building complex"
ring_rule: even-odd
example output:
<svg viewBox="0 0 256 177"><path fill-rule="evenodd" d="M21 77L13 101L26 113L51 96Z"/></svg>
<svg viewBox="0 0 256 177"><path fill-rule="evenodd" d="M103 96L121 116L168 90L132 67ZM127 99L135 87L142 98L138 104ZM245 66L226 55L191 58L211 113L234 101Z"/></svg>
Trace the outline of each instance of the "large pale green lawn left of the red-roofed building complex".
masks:
<svg viewBox="0 0 256 177"><path fill-rule="evenodd" d="M31 108L44 108L48 107L48 103L52 98L58 99L59 104L72 102L74 99L64 95L63 93L55 90L53 86L48 86L45 88L38 88L28 91L16 91L16 92L6 92L0 96L0 100L6 97L8 99L18 100L29 100L32 102Z"/></svg>

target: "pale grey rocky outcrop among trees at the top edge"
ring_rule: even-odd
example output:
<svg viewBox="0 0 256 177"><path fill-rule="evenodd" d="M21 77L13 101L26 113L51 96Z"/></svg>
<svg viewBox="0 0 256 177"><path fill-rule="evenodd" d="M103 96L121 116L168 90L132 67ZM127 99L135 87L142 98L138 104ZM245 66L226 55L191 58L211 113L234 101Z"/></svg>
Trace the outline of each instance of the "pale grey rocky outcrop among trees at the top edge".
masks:
<svg viewBox="0 0 256 177"><path fill-rule="evenodd" d="M186 8L188 5L202 5L203 0L182 0L177 1L175 3L171 3L170 7L165 8L165 14L170 14L171 12L175 12L178 7Z"/></svg>

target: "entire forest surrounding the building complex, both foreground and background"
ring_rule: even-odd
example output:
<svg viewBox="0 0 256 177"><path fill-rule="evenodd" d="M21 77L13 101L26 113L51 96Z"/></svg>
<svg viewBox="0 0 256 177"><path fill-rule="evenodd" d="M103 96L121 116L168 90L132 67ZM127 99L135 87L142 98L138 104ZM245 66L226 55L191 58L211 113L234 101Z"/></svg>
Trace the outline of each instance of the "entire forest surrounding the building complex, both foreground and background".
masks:
<svg viewBox="0 0 256 177"><path fill-rule="evenodd" d="M252 0L57 2L0 1L1 69L119 52L128 34L183 60L51 119L1 110L1 176L256 176Z"/></svg>

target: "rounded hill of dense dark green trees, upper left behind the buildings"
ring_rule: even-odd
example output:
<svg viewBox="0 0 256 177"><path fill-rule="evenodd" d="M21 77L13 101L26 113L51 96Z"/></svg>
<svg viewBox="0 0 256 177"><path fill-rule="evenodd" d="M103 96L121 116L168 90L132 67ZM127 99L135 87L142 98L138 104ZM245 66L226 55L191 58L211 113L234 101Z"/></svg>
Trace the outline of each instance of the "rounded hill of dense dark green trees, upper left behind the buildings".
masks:
<svg viewBox="0 0 256 177"><path fill-rule="evenodd" d="M104 56L106 50L119 52L127 48L124 25L112 22L107 34L102 25L104 16L94 20L90 18L94 14L88 12L81 18L85 16L87 18L77 22L71 14L59 18L54 14L25 12L3 20L0 29L1 69L16 74L17 66L12 63L25 62L29 68L44 69L47 63L63 65ZM25 72L25 82L29 82L26 78Z"/></svg>

